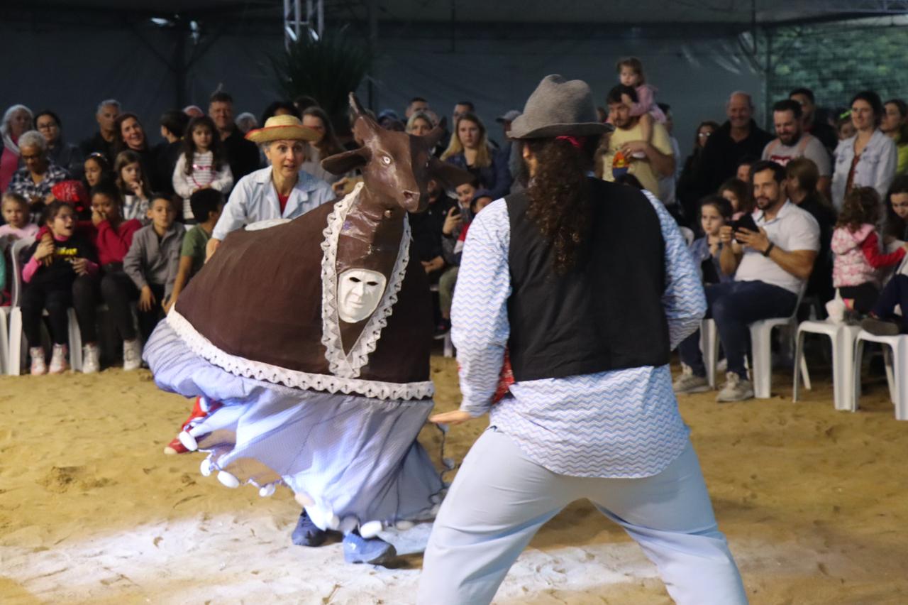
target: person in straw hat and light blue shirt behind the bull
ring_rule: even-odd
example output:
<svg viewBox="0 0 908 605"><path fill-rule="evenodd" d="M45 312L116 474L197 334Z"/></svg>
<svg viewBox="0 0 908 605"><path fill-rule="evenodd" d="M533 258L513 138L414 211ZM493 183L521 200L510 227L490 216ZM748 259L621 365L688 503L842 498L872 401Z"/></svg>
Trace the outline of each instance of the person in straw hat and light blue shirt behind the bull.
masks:
<svg viewBox="0 0 908 605"><path fill-rule="evenodd" d="M272 129L272 130L269 130ZM286 138L271 140L270 134ZM262 138L260 135L264 136ZM230 199L206 244L211 256L227 233L244 224L266 219L292 219L334 199L331 185L301 170L305 142L314 131L292 115L276 115L250 136L262 140L262 151L269 166L242 177L233 187Z"/></svg>

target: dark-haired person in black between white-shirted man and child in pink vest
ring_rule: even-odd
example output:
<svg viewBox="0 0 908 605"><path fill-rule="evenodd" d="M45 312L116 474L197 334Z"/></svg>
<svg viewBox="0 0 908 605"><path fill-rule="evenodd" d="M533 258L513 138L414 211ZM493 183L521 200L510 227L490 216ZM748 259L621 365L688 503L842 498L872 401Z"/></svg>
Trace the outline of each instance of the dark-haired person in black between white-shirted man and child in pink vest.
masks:
<svg viewBox="0 0 908 605"><path fill-rule="evenodd" d="M797 204L814 217L820 227L820 252L814 262L814 271L807 281L805 297L815 297L819 305L817 314L825 317L825 302L832 300L833 289L833 254L829 244L833 239L835 211L823 193L817 190L820 173L811 160L805 157L795 158L785 166L785 193L792 203Z"/></svg>

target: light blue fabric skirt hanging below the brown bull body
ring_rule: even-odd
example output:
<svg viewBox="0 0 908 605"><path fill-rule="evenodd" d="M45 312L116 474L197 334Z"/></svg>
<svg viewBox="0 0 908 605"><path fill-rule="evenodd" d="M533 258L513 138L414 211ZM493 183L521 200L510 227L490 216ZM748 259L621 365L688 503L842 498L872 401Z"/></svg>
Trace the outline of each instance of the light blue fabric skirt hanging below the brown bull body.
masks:
<svg viewBox="0 0 908 605"><path fill-rule="evenodd" d="M203 472L263 493L283 482L321 529L389 527L437 511L443 484L417 441L431 400L304 391L237 376L192 352L166 321L143 356L164 391L222 403L192 429L209 453Z"/></svg>

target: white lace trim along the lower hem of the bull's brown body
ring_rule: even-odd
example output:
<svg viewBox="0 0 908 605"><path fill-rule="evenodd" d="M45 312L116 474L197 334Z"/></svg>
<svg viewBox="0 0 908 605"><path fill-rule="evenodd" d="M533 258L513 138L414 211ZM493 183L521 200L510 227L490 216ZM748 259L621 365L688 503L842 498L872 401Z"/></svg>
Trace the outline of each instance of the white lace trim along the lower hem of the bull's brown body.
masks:
<svg viewBox="0 0 908 605"><path fill-rule="evenodd" d="M288 370L270 363L253 362L224 352L200 334L183 315L171 309L167 322L173 332L186 342L192 352L237 376L259 381L283 384L295 389L311 391L358 393L366 397L385 400L426 399L435 393L431 381L426 382L379 382L353 378L341 378L328 374L313 374Z"/></svg>

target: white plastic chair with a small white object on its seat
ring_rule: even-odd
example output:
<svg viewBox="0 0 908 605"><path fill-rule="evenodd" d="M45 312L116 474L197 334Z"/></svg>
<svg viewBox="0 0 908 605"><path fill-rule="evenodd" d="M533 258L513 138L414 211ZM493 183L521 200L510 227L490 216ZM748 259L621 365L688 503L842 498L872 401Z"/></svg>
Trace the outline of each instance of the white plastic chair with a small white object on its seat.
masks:
<svg viewBox="0 0 908 605"><path fill-rule="evenodd" d="M834 322L801 322L795 337L795 384L792 401L797 401L801 374L804 388L810 391L810 375L804 360L804 334L824 334L833 343L833 398L836 410L857 410L854 397L854 341L860 326ZM800 370L800 372L798 372Z"/></svg>

